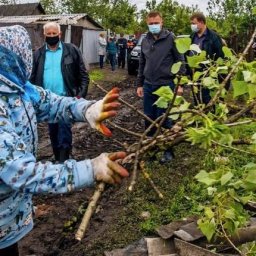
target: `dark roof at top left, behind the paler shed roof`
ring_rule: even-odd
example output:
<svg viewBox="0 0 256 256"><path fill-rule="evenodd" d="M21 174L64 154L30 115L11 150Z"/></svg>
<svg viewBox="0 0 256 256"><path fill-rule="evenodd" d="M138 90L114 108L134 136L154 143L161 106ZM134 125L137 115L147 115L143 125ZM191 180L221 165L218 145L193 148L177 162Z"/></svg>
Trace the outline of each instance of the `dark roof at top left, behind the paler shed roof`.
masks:
<svg viewBox="0 0 256 256"><path fill-rule="evenodd" d="M26 16L40 13L45 14L40 3L0 5L0 16Z"/></svg>

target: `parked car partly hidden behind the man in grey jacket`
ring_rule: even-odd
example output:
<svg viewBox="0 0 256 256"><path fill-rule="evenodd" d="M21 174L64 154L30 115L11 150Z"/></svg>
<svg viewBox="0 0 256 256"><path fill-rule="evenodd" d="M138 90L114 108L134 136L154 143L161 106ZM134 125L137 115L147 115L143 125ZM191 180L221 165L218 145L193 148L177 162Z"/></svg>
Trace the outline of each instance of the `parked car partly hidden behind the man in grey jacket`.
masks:
<svg viewBox="0 0 256 256"><path fill-rule="evenodd" d="M130 56L127 60L127 67L128 67L128 74L129 75L137 75L138 74L138 68L139 68L139 60L140 60L140 53L141 53L141 42L146 36L145 34L141 34L137 45L133 48L133 50L130 53ZM189 37L189 35L179 35L176 38L184 38Z"/></svg>

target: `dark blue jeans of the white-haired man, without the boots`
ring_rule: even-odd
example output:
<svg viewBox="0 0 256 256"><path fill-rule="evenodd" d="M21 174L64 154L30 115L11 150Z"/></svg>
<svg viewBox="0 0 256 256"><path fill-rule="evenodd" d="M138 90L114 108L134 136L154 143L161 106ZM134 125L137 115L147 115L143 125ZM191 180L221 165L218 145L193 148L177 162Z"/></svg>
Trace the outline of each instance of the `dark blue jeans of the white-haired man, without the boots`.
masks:
<svg viewBox="0 0 256 256"><path fill-rule="evenodd" d="M72 131L71 123L48 124L51 144L53 149L71 149Z"/></svg>

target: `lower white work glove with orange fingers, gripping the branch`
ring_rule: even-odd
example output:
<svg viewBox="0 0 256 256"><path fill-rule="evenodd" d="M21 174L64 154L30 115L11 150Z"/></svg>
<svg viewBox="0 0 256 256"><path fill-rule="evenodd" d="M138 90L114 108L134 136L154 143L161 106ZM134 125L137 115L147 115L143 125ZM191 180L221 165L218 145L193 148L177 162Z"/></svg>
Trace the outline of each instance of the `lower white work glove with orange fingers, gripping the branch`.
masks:
<svg viewBox="0 0 256 256"><path fill-rule="evenodd" d="M102 153L91 160L94 178L110 184L120 183L128 177L128 171L119 165L116 160L125 158L125 152Z"/></svg>

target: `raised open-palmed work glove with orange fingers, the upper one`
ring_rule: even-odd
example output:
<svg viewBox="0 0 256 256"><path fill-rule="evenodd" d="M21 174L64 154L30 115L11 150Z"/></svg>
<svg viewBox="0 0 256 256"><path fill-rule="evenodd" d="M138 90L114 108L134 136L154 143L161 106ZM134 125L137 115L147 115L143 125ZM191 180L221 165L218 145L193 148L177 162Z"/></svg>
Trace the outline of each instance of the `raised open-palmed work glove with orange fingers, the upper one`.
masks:
<svg viewBox="0 0 256 256"><path fill-rule="evenodd" d="M112 133L102 121L117 114L116 110L120 106L118 97L119 89L115 87L102 100L91 105L85 112L85 117L90 126L106 136L111 136Z"/></svg>

